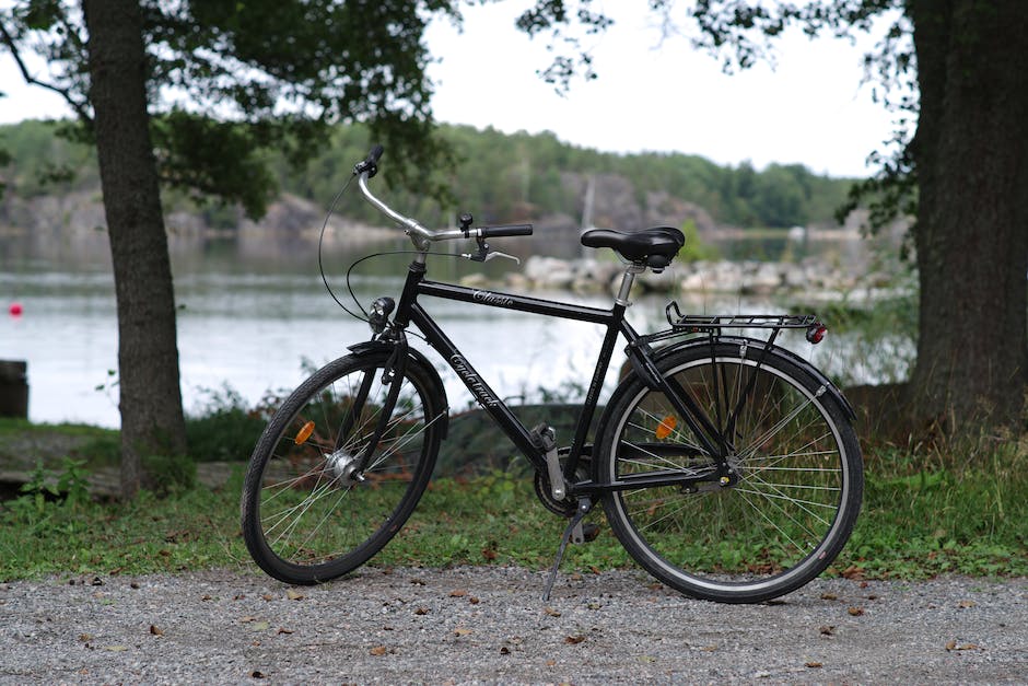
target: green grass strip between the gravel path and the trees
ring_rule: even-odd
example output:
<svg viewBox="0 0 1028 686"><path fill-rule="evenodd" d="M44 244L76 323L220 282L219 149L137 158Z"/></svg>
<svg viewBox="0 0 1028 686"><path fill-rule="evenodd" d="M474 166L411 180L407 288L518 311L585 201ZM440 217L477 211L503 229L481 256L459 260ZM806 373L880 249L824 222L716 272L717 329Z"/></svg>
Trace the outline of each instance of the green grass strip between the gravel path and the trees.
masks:
<svg viewBox="0 0 1028 686"><path fill-rule="evenodd" d="M1026 454L1024 445L1001 444L958 466L949 454L868 451L863 511L828 573L1028 575ZM37 484L0 507L0 580L256 569L240 534L242 464L223 489L143 493L130 503L90 500L77 489L82 468L81 461L66 461L61 493ZM601 525L599 537L572 547L564 569L631 567L599 509L591 518ZM373 563L541 569L552 562L561 531L562 520L538 503L530 479L442 478Z"/></svg>

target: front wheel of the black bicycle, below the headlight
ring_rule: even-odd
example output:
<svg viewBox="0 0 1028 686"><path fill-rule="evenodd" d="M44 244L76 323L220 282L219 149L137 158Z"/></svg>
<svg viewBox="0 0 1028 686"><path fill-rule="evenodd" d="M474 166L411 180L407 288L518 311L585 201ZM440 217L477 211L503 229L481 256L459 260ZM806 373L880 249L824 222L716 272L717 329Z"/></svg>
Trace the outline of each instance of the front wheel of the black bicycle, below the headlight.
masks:
<svg viewBox="0 0 1028 686"><path fill-rule="evenodd" d="M400 531L421 499L447 409L437 377L413 358L392 382L401 383L399 395L363 480L347 474L387 405L389 356L373 350L329 362L284 400L258 440L241 516L250 556L271 577L314 584L357 569Z"/></svg>

